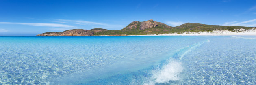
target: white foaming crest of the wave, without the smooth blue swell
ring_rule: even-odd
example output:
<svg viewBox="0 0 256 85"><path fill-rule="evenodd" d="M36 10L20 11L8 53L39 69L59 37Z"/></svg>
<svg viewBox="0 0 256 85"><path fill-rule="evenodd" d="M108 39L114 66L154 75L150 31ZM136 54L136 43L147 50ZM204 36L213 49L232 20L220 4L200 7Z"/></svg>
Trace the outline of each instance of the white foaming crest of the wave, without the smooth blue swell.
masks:
<svg viewBox="0 0 256 85"><path fill-rule="evenodd" d="M152 81L149 83L144 83L143 85L154 85L156 83L169 83L169 81L176 81L179 80L178 75L184 69L182 67L182 63L179 61L181 60L184 55L191 52L191 50L200 47L205 42L210 42L210 40L204 40L199 43L195 43L193 45L189 45L187 47L183 47L173 51L171 57L166 61L163 66L159 66L152 70Z"/></svg>

